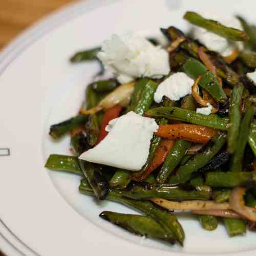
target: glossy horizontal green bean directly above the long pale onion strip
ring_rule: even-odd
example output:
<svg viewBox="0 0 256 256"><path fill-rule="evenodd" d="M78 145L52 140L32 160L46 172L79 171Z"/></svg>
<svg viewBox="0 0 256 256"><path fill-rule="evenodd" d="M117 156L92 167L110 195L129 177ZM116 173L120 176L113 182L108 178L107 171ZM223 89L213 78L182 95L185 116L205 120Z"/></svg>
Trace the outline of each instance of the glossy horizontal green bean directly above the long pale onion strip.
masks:
<svg viewBox="0 0 256 256"><path fill-rule="evenodd" d="M122 195L134 200L146 200L154 197L165 198L172 201L207 200L209 191L184 190L168 184L134 186L131 190L124 190Z"/></svg>

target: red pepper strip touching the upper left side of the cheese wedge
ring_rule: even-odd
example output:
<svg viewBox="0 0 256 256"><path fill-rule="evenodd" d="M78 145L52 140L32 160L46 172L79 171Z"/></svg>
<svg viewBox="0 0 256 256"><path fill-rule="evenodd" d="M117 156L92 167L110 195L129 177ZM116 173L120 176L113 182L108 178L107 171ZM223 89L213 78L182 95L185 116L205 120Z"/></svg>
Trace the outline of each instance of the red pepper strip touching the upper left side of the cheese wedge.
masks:
<svg viewBox="0 0 256 256"><path fill-rule="evenodd" d="M105 127L106 125L108 125L108 123L114 119L119 117L121 111L122 111L122 106L113 106L110 109L107 109L104 113L103 119L102 119L102 123L101 123L101 127L100 127L100 132L99 132L99 138L96 142L96 145L103 140L106 135L108 135L108 132L105 131Z"/></svg>

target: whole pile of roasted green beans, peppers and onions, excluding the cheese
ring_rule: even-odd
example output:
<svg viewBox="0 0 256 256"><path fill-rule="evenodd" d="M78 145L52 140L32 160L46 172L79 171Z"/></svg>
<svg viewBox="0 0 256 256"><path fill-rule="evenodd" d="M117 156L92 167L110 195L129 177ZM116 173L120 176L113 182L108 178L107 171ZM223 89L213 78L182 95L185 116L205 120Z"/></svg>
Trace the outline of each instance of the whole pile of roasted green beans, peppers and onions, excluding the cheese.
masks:
<svg viewBox="0 0 256 256"><path fill-rule="evenodd" d="M205 135L210 136L208 142L196 143L190 133L174 139L155 134L147 161L138 172L79 159L99 143L106 112L119 104L108 101L110 94L117 94L118 90L120 93L123 87L113 77L89 84L87 104L79 114L50 127L50 136L55 140L71 135L74 155L50 155L45 165L51 170L80 175L82 194L117 201L144 214L103 211L99 215L102 219L139 236L180 245L184 244L185 233L176 210L197 215L206 230L215 230L222 221L230 237L244 234L246 227L255 230L256 226L256 84L246 76L256 68L256 27L242 17L238 19L244 31L225 27L195 12L187 12L184 18L230 41L242 41L246 50L224 58L175 27L161 29L169 41L169 75L185 72L195 80L196 90L178 101L164 96L155 103L154 93L169 75L161 79L137 78L126 85L134 87L131 100L116 111L120 115L134 111L155 118L161 127L186 127L191 129L189 132L203 126L208 131ZM148 40L159 44L156 38ZM99 51L97 47L78 52L70 61L97 60L102 75ZM207 102L213 106L211 114L198 114L196 109ZM166 145L169 150L159 161Z"/></svg>

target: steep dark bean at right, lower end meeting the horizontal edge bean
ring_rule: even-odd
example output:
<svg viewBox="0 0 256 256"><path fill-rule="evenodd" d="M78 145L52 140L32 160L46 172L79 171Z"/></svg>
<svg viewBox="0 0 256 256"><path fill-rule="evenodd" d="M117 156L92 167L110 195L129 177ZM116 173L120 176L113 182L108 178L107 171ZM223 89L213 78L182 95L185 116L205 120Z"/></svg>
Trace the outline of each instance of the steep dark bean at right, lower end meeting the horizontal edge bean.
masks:
<svg viewBox="0 0 256 256"><path fill-rule="evenodd" d="M240 126L238 143L237 143L238 147L236 148L236 151L231 157L230 172L242 171L242 160L243 160L245 146L246 146L249 131L250 131L251 117L253 116L253 114L254 114L254 109L252 106L250 106L246 111Z"/></svg>

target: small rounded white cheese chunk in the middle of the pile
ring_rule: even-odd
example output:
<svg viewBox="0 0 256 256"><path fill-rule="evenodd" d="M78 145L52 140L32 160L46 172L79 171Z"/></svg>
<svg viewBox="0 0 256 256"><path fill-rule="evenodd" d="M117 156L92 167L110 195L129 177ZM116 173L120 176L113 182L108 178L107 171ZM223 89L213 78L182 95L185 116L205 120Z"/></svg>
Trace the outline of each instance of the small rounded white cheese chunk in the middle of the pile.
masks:
<svg viewBox="0 0 256 256"><path fill-rule="evenodd" d="M161 82L154 94L154 100L159 103L163 96L167 96L172 100L179 100L180 98L191 94L191 87L194 80L187 74L178 72Z"/></svg>

